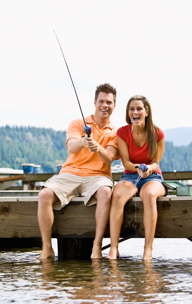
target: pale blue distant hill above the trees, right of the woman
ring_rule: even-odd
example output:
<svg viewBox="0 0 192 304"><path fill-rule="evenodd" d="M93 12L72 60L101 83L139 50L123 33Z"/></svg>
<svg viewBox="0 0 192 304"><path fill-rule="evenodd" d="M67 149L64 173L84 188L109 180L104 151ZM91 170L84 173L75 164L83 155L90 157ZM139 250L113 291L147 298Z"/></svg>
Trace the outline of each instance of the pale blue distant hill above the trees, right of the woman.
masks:
<svg viewBox="0 0 192 304"><path fill-rule="evenodd" d="M165 141L172 141L173 145L188 145L192 142L192 127L179 127L163 131Z"/></svg>

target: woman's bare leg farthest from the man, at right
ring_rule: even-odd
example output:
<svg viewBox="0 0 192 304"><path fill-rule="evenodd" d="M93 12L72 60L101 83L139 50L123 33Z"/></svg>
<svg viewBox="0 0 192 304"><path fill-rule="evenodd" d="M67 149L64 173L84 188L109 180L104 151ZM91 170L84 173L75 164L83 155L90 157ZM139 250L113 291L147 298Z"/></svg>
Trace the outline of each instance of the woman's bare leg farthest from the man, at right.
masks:
<svg viewBox="0 0 192 304"><path fill-rule="evenodd" d="M144 206L143 223L145 229L143 260L152 259L152 242L158 218L157 198L164 195L165 188L159 181L151 180L141 187L140 198Z"/></svg>

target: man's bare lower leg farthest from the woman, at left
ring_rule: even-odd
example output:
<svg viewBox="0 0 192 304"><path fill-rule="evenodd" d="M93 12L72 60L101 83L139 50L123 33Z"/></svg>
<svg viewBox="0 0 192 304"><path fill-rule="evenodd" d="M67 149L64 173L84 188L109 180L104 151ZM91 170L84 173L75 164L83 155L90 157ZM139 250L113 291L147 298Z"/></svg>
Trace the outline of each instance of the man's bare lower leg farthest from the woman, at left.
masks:
<svg viewBox="0 0 192 304"><path fill-rule="evenodd" d="M58 200L55 193L44 187L39 193L38 220L43 241L40 259L51 258L55 253L51 244L52 225L54 220L53 203Z"/></svg>

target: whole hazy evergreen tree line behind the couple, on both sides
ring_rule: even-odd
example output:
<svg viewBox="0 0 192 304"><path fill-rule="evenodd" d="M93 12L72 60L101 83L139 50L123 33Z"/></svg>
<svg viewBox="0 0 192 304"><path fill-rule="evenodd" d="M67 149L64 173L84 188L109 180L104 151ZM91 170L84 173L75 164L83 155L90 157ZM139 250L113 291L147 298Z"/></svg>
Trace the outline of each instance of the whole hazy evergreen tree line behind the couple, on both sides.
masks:
<svg viewBox="0 0 192 304"><path fill-rule="evenodd" d="M0 167L22 169L21 164L41 165L44 173L56 172L57 164L67 159L66 131L36 127L0 127ZM192 171L192 142L187 146L174 146L165 142L160 163L162 171ZM120 163L114 161L114 164Z"/></svg>

